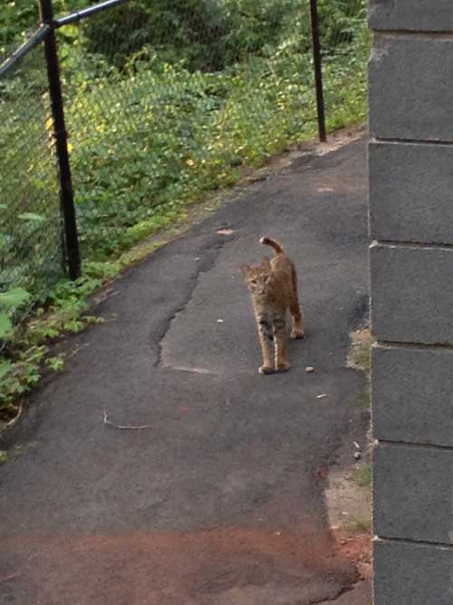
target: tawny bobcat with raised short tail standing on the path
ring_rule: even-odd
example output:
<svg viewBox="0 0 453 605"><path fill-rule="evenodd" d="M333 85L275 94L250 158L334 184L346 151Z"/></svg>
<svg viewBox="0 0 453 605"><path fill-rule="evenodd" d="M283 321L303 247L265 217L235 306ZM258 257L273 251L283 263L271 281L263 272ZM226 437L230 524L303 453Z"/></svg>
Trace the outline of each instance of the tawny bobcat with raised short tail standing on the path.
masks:
<svg viewBox="0 0 453 605"><path fill-rule="evenodd" d="M242 265L247 288L252 293L258 335L263 351L260 374L286 372L290 365L286 359L286 309L293 316L292 338L304 338L304 320L297 296L297 276L293 262L284 254L282 246L271 238L261 238L261 244L274 249L274 258L261 261L261 265ZM271 346L275 344L275 360Z"/></svg>

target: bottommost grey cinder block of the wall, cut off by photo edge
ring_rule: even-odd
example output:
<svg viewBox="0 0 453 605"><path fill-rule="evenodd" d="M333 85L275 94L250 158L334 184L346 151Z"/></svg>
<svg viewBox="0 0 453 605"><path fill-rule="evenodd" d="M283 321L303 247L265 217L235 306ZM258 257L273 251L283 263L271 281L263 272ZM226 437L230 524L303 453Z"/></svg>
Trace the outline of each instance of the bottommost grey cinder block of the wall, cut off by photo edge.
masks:
<svg viewBox="0 0 453 605"><path fill-rule="evenodd" d="M453 550L376 540L374 605L451 605Z"/></svg>

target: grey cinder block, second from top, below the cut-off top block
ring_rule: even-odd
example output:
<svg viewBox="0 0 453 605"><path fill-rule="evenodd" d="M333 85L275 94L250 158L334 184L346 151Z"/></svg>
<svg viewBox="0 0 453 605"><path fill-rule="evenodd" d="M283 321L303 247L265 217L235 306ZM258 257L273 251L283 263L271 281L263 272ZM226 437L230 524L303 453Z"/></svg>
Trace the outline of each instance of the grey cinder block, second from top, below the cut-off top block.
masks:
<svg viewBox="0 0 453 605"><path fill-rule="evenodd" d="M453 36L376 34L369 73L373 137L453 141Z"/></svg>

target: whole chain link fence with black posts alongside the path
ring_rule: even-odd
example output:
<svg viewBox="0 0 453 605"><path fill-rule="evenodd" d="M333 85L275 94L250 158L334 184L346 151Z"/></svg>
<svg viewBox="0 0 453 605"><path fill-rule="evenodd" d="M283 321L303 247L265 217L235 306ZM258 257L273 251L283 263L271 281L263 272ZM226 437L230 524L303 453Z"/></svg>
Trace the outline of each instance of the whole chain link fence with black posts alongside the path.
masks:
<svg viewBox="0 0 453 605"><path fill-rule="evenodd" d="M156 0L159 23L141 0L56 17L39 0L42 25L0 66L0 291L45 298L81 252L118 256L316 117L325 140L322 60L347 73L354 3L336 38L326 0L269 5L254 38L217 0ZM279 41L292 20L300 34Z"/></svg>

